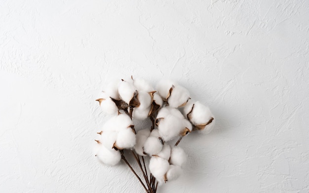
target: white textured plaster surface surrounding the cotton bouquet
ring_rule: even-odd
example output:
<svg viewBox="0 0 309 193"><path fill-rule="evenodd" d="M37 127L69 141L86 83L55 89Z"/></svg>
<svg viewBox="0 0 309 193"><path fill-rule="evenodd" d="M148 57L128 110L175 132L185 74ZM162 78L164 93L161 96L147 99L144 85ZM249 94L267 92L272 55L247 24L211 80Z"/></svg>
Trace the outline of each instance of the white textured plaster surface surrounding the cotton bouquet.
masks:
<svg viewBox="0 0 309 193"><path fill-rule="evenodd" d="M0 192L142 193L91 154L98 92L133 75L217 117L159 192L308 193L308 18L308 0L1 0Z"/></svg>

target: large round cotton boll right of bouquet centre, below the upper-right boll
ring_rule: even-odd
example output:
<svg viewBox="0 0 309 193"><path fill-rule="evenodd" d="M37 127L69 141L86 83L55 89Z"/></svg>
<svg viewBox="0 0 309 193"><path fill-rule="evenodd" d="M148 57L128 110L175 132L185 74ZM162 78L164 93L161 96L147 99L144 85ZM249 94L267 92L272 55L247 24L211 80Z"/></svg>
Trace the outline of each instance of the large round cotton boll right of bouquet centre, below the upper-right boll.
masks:
<svg viewBox="0 0 309 193"><path fill-rule="evenodd" d="M158 123L159 134L164 141L178 136L184 128L182 119L171 115L164 117Z"/></svg>

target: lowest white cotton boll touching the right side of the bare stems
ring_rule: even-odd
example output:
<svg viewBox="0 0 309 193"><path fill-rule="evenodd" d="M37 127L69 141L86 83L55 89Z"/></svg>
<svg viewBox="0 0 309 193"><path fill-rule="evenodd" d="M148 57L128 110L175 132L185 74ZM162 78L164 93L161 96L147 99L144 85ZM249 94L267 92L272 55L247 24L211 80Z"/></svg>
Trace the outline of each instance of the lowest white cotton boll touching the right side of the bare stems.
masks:
<svg viewBox="0 0 309 193"><path fill-rule="evenodd" d="M149 162L149 170L159 182L164 181L164 175L169 169L169 163L162 157L153 156Z"/></svg>

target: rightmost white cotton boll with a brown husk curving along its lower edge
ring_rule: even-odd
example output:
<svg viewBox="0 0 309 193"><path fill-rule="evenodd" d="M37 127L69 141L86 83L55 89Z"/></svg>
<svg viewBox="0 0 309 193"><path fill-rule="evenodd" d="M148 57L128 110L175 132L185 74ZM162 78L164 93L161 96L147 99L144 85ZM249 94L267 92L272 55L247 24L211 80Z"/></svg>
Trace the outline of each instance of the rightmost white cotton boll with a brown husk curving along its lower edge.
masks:
<svg viewBox="0 0 309 193"><path fill-rule="evenodd" d="M215 117L212 115L209 107L197 101L185 107L184 112L194 125L194 129L202 133L209 133L213 129Z"/></svg>

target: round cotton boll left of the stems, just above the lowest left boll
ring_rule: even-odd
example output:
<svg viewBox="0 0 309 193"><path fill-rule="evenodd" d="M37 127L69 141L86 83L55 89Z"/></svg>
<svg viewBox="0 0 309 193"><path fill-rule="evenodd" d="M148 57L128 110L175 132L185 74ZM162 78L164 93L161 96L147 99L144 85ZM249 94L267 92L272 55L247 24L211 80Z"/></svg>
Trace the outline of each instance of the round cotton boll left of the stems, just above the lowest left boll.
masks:
<svg viewBox="0 0 309 193"><path fill-rule="evenodd" d="M130 149L136 143L135 133L131 128L119 131L115 147L118 149Z"/></svg>

